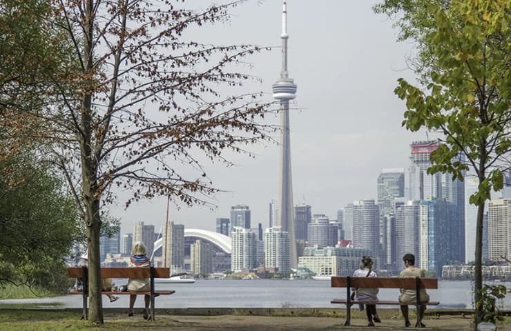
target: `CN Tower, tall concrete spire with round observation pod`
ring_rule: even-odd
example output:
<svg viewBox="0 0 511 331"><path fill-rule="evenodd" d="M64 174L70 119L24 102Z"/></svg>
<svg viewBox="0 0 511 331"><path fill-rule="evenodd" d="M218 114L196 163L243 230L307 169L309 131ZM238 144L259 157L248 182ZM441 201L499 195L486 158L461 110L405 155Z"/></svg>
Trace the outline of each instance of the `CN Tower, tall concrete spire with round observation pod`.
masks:
<svg viewBox="0 0 511 331"><path fill-rule="evenodd" d="M282 71L280 79L273 84L273 98L280 101L280 123L282 134L280 137L280 214L277 225L282 231L289 232L289 265L297 268L298 257L296 254L296 234L293 216L293 185L291 181L291 143L289 141L289 100L296 97L296 84L289 78L287 72L287 8L286 0L282 4Z"/></svg>

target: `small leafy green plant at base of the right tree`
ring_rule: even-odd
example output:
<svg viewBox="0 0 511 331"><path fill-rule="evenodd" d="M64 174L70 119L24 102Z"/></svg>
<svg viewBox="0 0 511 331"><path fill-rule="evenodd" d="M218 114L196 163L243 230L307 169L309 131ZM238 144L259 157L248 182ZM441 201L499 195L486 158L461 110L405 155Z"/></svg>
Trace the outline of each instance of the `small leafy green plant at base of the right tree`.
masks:
<svg viewBox="0 0 511 331"><path fill-rule="evenodd" d="M505 298L508 289L504 285L484 285L481 290L476 291L479 299L476 301L476 308L481 309L482 321L496 323L503 321L502 312L496 305L496 301Z"/></svg>

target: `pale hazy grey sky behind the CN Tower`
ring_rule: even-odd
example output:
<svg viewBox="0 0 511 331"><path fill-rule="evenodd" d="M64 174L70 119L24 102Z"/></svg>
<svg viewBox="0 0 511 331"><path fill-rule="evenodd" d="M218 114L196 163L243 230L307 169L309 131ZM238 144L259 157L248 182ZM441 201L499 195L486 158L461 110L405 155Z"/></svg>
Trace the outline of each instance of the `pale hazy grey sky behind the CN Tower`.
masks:
<svg viewBox="0 0 511 331"><path fill-rule="evenodd" d="M193 0L194 6L211 1ZM401 128L405 104L393 93L396 80L413 80L406 58L412 45L397 43L392 21L372 12L376 1L288 0L289 76L298 85L291 105L291 164L294 203L306 202L313 214L336 218L339 208L356 199L376 199L382 168L407 168L409 143L425 133ZM206 42L280 46L281 0L249 0L233 10L230 23L196 30ZM247 86L267 92L280 74L280 48L250 59L251 74L262 83ZM278 123L278 118L270 118ZM206 168L219 194L215 210L172 207L170 219L185 228L215 229L217 217L229 217L231 205L246 204L252 227L268 225L268 204L278 198L278 145L253 146L255 159L234 155L232 168ZM119 205L110 214L132 232L135 221L165 220L166 199Z"/></svg>

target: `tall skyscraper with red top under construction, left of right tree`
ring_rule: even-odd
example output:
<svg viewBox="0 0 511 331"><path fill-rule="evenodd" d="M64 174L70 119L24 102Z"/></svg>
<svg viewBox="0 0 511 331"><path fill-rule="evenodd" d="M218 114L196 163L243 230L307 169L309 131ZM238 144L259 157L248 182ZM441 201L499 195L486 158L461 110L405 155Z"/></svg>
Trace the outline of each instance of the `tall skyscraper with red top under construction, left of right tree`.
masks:
<svg viewBox="0 0 511 331"><path fill-rule="evenodd" d="M430 154L440 144L436 141L415 141L410 145L409 200L439 199L441 197L441 172L427 174L432 165Z"/></svg>

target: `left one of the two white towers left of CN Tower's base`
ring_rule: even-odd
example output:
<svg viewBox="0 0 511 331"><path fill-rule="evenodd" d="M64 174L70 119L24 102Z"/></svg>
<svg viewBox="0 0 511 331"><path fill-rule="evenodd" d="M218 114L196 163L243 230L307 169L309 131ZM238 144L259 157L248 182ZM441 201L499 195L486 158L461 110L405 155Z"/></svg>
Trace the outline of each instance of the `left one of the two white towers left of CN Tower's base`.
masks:
<svg viewBox="0 0 511 331"><path fill-rule="evenodd" d="M231 270L240 272L257 267L257 245L255 233L250 229L234 226L231 232Z"/></svg>

